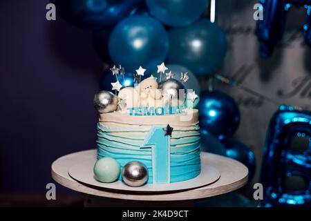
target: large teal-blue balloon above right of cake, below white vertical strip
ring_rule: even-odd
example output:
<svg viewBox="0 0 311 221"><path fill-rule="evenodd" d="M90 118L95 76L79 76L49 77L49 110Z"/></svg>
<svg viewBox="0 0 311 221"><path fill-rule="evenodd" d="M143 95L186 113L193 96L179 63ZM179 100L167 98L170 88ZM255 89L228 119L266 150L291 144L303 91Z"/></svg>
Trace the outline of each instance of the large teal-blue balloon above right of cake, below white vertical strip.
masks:
<svg viewBox="0 0 311 221"><path fill-rule="evenodd" d="M169 41L167 60L189 68L196 75L214 73L222 66L227 52L225 33L207 19L169 30Z"/></svg>

